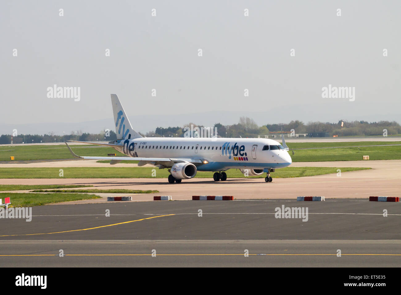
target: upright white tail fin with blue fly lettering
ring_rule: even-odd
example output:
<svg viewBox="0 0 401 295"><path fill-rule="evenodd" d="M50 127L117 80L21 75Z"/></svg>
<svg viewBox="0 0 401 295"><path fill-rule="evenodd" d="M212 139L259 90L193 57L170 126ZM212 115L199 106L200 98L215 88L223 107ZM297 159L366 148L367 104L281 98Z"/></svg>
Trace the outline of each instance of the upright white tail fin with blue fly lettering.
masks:
<svg viewBox="0 0 401 295"><path fill-rule="evenodd" d="M117 94L111 94L111 104L113 105L115 133L117 134L117 140L142 137L132 128L130 120L128 120L128 116L124 111Z"/></svg>

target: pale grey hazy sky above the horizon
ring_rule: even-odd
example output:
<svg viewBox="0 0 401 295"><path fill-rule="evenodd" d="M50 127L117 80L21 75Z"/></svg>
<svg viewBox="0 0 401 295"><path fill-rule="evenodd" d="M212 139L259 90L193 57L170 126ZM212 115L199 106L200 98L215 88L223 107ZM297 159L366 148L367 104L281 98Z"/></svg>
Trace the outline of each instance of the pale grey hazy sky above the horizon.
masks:
<svg viewBox="0 0 401 295"><path fill-rule="evenodd" d="M264 112L260 125L401 122L400 13L401 1L3 0L0 124L111 118L111 93L131 122L209 111ZM80 101L48 98L53 84L81 87ZM355 87L355 100L322 98L329 84Z"/></svg>

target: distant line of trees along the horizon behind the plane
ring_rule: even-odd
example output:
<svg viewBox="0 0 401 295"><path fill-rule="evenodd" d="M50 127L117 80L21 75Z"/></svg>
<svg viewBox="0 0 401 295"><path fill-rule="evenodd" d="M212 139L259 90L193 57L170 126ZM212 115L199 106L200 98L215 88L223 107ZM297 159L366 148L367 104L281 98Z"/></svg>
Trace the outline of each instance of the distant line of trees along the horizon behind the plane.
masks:
<svg viewBox="0 0 401 295"><path fill-rule="evenodd" d="M336 123L330 122L308 122L304 124L299 120L291 121L288 124L266 124L258 126L255 121L248 117L239 118L239 122L233 125L223 125L215 123L211 128L217 128L218 137L264 137L265 135L271 135L269 132L277 131L291 131L295 130L296 134L309 134L312 132L327 132L329 136L374 136L383 135L383 129L387 130L387 135L401 134L401 126L393 121L379 121L379 122L367 122L367 121L344 121L341 127L342 121ZM184 137L185 127L204 127L203 125L196 125L192 122L184 124L184 126L176 127L157 127L155 131L147 132L146 134L140 133L146 137ZM108 135L108 136L106 136ZM13 137L13 143L34 143L38 142L63 142L64 140L79 140L79 141L112 141L116 140L117 136L113 130L110 130L108 134L105 131L101 131L98 134L82 133L81 130L71 131L70 134L55 135L54 132L49 134L38 135L38 134L18 134ZM120 138L118 138L120 139ZM3 134L0 136L0 144L10 144L11 135Z"/></svg>

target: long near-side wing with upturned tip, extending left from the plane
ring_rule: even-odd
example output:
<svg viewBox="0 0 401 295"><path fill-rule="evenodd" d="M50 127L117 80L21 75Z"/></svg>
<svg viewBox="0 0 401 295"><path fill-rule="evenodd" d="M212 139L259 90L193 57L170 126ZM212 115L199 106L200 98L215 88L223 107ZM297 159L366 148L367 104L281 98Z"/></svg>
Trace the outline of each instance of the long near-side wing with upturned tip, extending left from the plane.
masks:
<svg viewBox="0 0 401 295"><path fill-rule="evenodd" d="M86 157L86 156L78 156L76 155L70 148L70 146L67 144L67 142L65 142L65 144L67 145L67 148L69 149L69 151L71 152L71 154L76 157L76 158L81 158L81 159L91 159L91 160L111 160L111 164L115 164L118 163L120 161L143 161L142 163L138 163L145 165L147 163L157 163L157 164L162 164L162 165L174 165L175 163L179 163L179 162L189 162L189 163L197 163L197 164L206 164L208 162L204 162L201 159L173 159L173 158L139 158L139 157ZM110 144L113 145L113 144ZM144 163L146 162L146 163ZM139 166L142 166L139 165Z"/></svg>

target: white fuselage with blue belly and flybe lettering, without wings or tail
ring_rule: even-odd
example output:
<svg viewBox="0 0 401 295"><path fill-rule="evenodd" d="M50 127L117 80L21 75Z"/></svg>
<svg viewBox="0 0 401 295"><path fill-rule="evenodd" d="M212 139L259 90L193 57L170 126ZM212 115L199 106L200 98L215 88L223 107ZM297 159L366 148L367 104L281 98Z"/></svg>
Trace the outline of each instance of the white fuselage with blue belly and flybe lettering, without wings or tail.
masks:
<svg viewBox="0 0 401 295"><path fill-rule="evenodd" d="M115 149L129 157L206 160L207 164L197 166L198 171L283 168L292 163L279 142L267 138L142 137L116 143L122 147Z"/></svg>

